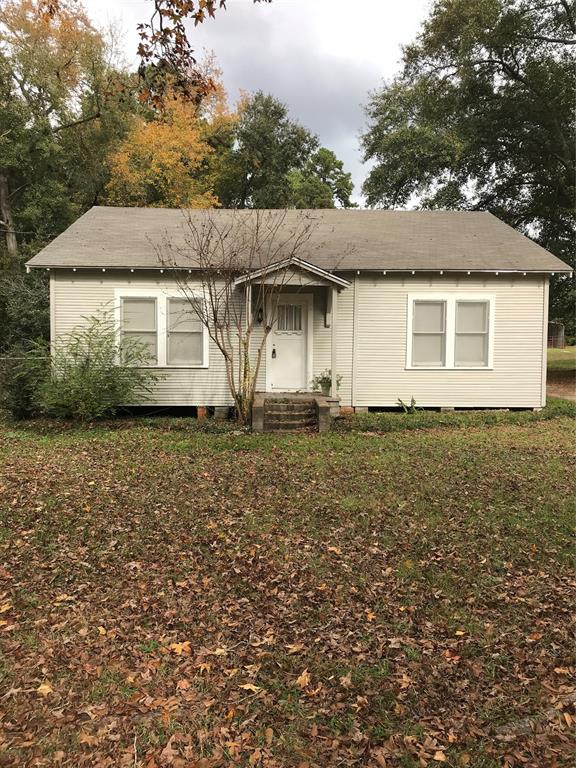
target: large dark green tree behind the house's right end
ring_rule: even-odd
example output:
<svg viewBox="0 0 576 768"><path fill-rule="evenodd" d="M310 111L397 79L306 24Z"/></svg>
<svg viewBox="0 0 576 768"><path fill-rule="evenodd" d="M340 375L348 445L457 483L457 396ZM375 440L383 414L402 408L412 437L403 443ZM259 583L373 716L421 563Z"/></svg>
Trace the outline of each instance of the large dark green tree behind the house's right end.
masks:
<svg viewBox="0 0 576 768"><path fill-rule="evenodd" d="M368 203L488 209L574 264L575 51L572 0L436 0L370 99ZM575 332L573 280L551 316Z"/></svg>

